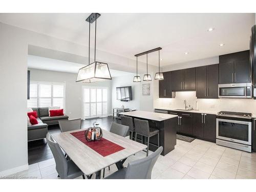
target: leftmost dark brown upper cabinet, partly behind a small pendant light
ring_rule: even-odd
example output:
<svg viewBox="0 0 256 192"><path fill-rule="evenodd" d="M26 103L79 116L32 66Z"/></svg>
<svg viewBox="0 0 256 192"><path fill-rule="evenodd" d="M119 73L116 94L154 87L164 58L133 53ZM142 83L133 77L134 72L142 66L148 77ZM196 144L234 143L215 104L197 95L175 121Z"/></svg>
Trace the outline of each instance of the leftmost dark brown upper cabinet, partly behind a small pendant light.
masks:
<svg viewBox="0 0 256 192"><path fill-rule="evenodd" d="M172 72L163 72L163 80L159 80L159 98L172 98Z"/></svg>

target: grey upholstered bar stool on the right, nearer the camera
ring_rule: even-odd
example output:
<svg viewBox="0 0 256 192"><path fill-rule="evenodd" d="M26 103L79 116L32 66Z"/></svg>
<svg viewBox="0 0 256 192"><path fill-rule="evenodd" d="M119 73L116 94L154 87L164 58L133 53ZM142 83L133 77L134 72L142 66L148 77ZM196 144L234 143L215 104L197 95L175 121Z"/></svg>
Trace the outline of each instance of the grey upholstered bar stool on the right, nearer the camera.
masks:
<svg viewBox="0 0 256 192"><path fill-rule="evenodd" d="M147 140L146 156L148 156L148 148L150 146L150 137L157 135L158 147L160 146L159 130L151 128L147 120L134 118L134 124L135 124L135 141L137 141L137 134L141 135L141 142L143 142L143 136L147 138L146 139Z"/></svg>

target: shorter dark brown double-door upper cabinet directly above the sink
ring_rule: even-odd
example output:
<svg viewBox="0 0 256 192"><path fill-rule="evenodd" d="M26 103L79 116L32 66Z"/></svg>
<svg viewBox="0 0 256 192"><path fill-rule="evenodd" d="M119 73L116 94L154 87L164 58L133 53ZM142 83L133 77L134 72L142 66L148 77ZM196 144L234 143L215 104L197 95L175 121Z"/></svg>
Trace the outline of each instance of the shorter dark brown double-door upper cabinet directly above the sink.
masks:
<svg viewBox="0 0 256 192"><path fill-rule="evenodd" d="M173 91L196 90L196 68L172 71Z"/></svg>

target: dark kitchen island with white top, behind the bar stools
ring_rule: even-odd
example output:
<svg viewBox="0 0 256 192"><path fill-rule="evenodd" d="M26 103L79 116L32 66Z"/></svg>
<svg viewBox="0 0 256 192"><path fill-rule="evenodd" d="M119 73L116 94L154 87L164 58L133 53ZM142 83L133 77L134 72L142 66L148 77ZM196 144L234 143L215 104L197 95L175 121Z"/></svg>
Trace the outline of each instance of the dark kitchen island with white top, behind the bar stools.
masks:
<svg viewBox="0 0 256 192"><path fill-rule="evenodd" d="M176 145L176 131L178 115L161 114L147 111L123 112L120 115L132 118L148 120L150 127L158 129L160 133L160 146L163 146L161 155L166 155L174 150ZM135 134L133 135L134 138ZM142 142L143 138L138 135L137 141ZM150 151L157 149L157 135L150 138Z"/></svg>

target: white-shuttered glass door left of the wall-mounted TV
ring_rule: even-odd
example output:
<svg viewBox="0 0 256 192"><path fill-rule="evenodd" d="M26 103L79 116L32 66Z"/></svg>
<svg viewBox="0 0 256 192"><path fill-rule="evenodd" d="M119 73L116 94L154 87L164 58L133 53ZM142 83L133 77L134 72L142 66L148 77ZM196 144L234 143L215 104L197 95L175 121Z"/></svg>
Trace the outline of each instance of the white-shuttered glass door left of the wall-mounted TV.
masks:
<svg viewBox="0 0 256 192"><path fill-rule="evenodd" d="M106 88L83 88L83 118L108 115L107 93Z"/></svg>

